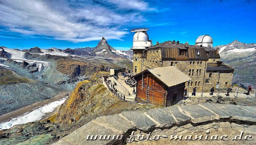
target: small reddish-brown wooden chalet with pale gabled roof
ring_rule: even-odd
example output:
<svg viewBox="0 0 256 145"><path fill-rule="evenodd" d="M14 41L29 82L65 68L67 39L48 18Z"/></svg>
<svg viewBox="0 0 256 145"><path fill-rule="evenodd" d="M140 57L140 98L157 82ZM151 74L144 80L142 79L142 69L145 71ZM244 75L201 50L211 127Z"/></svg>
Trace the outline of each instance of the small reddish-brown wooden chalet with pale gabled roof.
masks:
<svg viewBox="0 0 256 145"><path fill-rule="evenodd" d="M134 76L136 101L171 106L183 99L185 82L192 80L173 66L147 69Z"/></svg>

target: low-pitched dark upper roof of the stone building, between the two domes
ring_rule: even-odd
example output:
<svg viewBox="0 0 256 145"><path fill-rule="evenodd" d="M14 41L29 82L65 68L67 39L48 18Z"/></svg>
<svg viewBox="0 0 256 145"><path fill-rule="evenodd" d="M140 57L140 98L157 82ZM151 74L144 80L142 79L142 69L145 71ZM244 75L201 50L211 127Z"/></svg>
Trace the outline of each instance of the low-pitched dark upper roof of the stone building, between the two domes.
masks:
<svg viewBox="0 0 256 145"><path fill-rule="evenodd" d="M200 47L197 45L188 45L189 48L204 48L204 50L209 51L209 50L214 50L212 48L207 48L207 47ZM156 45L153 45L151 47L149 47L148 49L153 49L153 48L180 48L180 49L187 49L185 47L185 44L182 43L177 43L177 42L173 42L173 41L165 41L163 43L159 43Z"/></svg>

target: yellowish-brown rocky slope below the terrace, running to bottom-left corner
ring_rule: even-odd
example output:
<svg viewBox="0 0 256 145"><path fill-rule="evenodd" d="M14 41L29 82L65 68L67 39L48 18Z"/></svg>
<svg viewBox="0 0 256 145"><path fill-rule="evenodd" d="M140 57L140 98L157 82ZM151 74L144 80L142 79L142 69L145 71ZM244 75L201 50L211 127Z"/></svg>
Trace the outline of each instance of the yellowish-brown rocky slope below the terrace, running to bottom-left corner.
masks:
<svg viewBox="0 0 256 145"><path fill-rule="evenodd" d="M93 80L108 72L93 75ZM112 95L99 81L82 81L63 103L58 114L53 115L55 123L46 120L16 125L0 131L0 144L46 145L57 142L75 129L102 115L117 114L122 111L147 111L154 106L128 103Z"/></svg>

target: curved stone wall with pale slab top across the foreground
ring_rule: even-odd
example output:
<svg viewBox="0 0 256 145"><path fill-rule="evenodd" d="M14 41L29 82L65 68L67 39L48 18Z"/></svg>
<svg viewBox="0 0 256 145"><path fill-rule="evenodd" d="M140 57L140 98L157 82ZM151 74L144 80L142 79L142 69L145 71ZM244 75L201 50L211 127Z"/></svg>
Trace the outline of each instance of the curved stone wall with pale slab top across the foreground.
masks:
<svg viewBox="0 0 256 145"><path fill-rule="evenodd" d="M256 108L231 104L202 103L150 109L147 112L128 111L101 116L53 145L123 145L133 134L177 135L218 128L244 128L256 125ZM87 137L94 136L95 140ZM100 140L100 135L111 135ZM113 136L119 136L116 139ZM133 142L139 141L135 139Z"/></svg>

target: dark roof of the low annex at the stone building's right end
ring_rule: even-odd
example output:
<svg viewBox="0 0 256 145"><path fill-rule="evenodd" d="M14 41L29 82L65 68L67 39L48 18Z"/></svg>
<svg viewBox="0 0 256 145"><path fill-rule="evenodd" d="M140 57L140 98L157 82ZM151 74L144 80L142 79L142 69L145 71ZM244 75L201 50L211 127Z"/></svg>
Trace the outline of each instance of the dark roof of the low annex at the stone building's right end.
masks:
<svg viewBox="0 0 256 145"><path fill-rule="evenodd" d="M231 73L234 72L234 69L221 64L218 66L217 63L207 63L207 68L206 72L226 72L226 73Z"/></svg>

